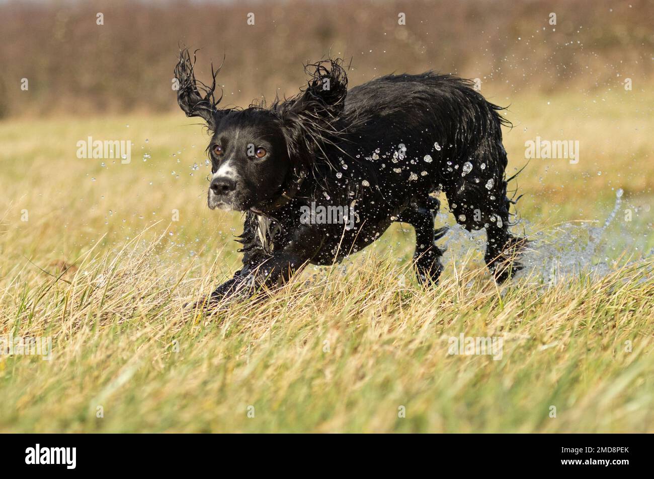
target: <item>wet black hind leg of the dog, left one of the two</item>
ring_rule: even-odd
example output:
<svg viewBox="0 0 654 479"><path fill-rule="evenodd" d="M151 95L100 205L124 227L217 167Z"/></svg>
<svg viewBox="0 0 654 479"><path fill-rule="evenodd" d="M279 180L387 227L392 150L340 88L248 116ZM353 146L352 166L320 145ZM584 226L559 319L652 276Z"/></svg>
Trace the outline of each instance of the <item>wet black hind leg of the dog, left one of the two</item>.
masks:
<svg viewBox="0 0 654 479"><path fill-rule="evenodd" d="M413 267L422 285L438 283L438 277L443 271L443 250L436 246L435 241L443 237L447 227L434 230L434 219L440 205L440 202L431 196L418 202L412 201L397 220L409 223L415 229Z"/></svg>

